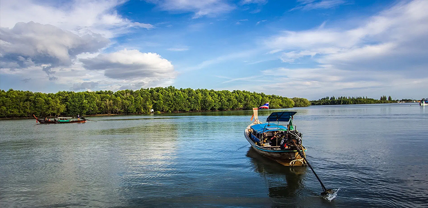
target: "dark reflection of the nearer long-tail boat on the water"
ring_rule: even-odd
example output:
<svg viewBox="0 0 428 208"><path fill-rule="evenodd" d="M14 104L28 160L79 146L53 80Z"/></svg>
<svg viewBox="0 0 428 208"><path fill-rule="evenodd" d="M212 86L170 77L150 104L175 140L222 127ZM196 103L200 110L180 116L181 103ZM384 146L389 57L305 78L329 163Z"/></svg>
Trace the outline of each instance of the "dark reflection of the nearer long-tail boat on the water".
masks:
<svg viewBox="0 0 428 208"><path fill-rule="evenodd" d="M254 171L263 176L269 186L269 196L272 198L293 197L299 195L304 188L302 179L306 167L286 167L258 154L253 148L247 152L251 158Z"/></svg>

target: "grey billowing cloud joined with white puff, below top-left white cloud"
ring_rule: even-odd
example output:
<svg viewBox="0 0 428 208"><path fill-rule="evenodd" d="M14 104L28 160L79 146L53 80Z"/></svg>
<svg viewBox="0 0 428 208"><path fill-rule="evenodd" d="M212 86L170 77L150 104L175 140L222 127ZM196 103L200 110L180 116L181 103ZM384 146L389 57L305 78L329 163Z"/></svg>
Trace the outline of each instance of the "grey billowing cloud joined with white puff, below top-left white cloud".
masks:
<svg viewBox="0 0 428 208"><path fill-rule="evenodd" d="M158 54L102 53L110 41L99 34L79 36L52 25L19 22L12 29L1 28L0 38L2 74L31 74L39 81L70 84L72 90L166 86L177 74Z"/></svg>

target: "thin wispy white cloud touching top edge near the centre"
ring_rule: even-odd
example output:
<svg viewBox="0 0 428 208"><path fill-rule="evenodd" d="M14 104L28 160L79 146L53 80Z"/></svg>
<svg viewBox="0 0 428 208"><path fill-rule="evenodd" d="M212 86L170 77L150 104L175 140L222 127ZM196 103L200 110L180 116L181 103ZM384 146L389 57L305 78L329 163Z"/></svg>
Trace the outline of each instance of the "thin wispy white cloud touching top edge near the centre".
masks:
<svg viewBox="0 0 428 208"><path fill-rule="evenodd" d="M215 17L235 9L234 6L223 0L146 0L146 2L156 4L165 11L194 12L193 18Z"/></svg>

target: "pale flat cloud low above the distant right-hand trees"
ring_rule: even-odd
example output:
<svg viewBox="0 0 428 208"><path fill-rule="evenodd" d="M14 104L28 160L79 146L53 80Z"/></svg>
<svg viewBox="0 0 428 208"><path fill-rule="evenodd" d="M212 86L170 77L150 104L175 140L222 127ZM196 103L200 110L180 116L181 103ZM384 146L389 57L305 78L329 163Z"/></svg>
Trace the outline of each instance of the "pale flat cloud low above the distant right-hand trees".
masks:
<svg viewBox="0 0 428 208"><path fill-rule="evenodd" d="M318 68L274 68L264 70L261 74L265 79L269 79L269 82L266 84L259 82L258 85L246 85L241 88L310 100L325 96L369 96L377 99L385 93L415 95L412 88L423 85L426 79L406 78L383 72L371 72L368 77L365 73L338 70L328 65Z"/></svg>

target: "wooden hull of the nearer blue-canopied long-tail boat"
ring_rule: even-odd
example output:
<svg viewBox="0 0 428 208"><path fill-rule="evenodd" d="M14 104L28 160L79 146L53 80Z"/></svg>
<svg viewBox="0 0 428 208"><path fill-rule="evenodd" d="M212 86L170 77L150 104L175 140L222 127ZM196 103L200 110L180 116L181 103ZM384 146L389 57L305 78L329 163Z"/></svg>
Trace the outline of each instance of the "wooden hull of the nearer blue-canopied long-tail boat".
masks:
<svg viewBox="0 0 428 208"><path fill-rule="evenodd" d="M257 153L268 157L272 160L277 161L277 163L282 164L284 166L304 166L306 165L303 158L300 157L297 150L281 150L279 148L272 149L269 147L260 147L256 145L249 137L248 130L252 126L249 125L244 132L245 138L250 143L251 148L253 148ZM303 151L306 149L303 147Z"/></svg>

